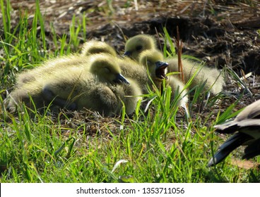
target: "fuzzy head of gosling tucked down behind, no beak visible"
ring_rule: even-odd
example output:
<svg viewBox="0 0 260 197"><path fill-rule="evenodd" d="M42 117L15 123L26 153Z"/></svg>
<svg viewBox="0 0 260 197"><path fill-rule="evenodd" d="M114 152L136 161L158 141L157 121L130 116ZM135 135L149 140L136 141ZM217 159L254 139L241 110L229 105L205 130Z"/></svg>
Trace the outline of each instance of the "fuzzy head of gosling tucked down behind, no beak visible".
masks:
<svg viewBox="0 0 260 197"><path fill-rule="evenodd" d="M81 51L83 56L90 56L98 53L107 53L111 56L117 56L117 52L113 49L113 47L105 42L90 40L89 42L85 42L83 44Z"/></svg>

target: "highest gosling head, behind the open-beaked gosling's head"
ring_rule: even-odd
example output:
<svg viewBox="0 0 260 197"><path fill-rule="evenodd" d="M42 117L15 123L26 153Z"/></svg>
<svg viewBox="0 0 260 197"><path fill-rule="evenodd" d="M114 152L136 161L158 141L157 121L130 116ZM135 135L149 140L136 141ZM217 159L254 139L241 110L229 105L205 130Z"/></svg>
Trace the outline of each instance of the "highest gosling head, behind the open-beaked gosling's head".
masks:
<svg viewBox="0 0 260 197"><path fill-rule="evenodd" d="M150 49L157 49L155 38L148 34L139 34L127 40L124 47L124 56L137 60L142 51Z"/></svg>

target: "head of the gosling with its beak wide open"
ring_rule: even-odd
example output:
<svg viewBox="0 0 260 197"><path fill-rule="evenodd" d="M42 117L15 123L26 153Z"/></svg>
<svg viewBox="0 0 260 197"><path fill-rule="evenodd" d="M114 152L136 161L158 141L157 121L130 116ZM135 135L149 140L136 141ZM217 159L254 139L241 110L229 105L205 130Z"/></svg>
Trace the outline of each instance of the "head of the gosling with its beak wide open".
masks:
<svg viewBox="0 0 260 197"><path fill-rule="evenodd" d="M148 68L152 80L167 79L168 63L163 61L163 55L160 51L155 49L143 51L138 61Z"/></svg>

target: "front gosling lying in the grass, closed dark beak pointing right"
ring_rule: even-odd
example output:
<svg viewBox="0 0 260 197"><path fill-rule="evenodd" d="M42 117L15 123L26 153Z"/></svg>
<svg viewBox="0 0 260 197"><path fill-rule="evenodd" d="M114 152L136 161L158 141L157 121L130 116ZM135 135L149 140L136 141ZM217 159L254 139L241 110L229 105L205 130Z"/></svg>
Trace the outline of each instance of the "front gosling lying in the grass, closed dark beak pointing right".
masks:
<svg viewBox="0 0 260 197"><path fill-rule="evenodd" d="M123 101L131 103L130 106L126 106L126 113L132 113L132 103L136 103L141 91L136 88L136 84L121 87L121 84L129 82L120 72L119 65L114 63L112 56L91 56L88 64L70 66L66 69L56 68L52 70L51 75L44 72L35 82L26 83L22 88L14 90L11 92L7 108L13 110L16 103L21 102L32 107L31 97L37 108L52 102L61 108L88 108L105 116L119 113L119 106ZM127 90L126 94L130 97L122 96L123 93L117 95L118 89Z"/></svg>

